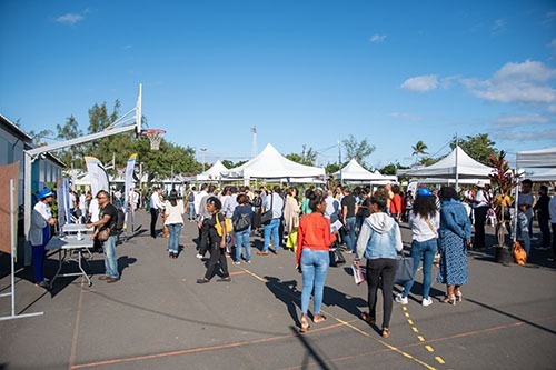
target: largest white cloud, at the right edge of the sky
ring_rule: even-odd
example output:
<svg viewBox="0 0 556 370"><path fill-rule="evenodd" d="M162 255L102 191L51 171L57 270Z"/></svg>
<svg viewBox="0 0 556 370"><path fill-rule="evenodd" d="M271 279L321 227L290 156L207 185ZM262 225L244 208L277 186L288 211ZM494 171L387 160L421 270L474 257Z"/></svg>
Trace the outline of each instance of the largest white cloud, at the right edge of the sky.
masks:
<svg viewBox="0 0 556 370"><path fill-rule="evenodd" d="M461 83L477 98L502 103L556 102L556 90L548 83L556 78L556 69L543 62L526 60L506 63L490 79L463 79Z"/></svg>

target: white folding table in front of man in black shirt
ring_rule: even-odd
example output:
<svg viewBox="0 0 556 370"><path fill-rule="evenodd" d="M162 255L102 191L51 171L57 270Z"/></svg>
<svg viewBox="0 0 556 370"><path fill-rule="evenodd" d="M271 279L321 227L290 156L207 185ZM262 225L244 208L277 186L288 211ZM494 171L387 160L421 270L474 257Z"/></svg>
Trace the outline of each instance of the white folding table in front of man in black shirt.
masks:
<svg viewBox="0 0 556 370"><path fill-rule="evenodd" d="M53 237L48 242L46 249L47 250L57 250L58 251L58 271L56 271L51 283L54 282L58 277L78 277L83 276L87 279L87 283L90 287L92 284L89 274L85 271L82 266L82 260L87 263L90 269L89 262L83 257L83 252L91 253L91 249L93 248L93 241L90 239L90 236L83 234L82 240L77 240L77 236L69 234L66 238L59 239L58 237ZM77 257L73 253L77 252ZM62 266L69 262L77 262L79 267L79 272L68 272L60 273L62 270Z"/></svg>

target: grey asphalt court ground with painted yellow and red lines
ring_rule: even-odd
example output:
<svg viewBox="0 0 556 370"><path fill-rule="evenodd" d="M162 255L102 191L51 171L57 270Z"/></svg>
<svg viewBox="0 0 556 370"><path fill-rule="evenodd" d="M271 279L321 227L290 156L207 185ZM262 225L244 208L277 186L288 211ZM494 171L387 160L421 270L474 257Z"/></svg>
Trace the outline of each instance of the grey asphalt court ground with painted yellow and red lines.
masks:
<svg viewBox="0 0 556 370"><path fill-rule="evenodd" d="M228 259L231 282L197 284L205 264L195 257L196 224L186 221L178 259L148 224L139 211L136 232L117 247L116 283L98 280L101 253L90 261L91 287L82 277L59 278L46 291L30 281L30 268L19 269L16 312L43 314L0 321L0 369L556 369L549 251L534 250L525 267L497 263L492 248L470 251L469 283L456 306L439 302L445 287L434 283L434 304L423 307L418 271L409 304L394 303L388 339L359 318L367 287L354 283L346 254L326 279L328 320L299 334L292 252L257 256L254 248L250 264ZM407 252L406 227L403 237ZM495 242L490 227L487 237ZM260 238L252 241L260 247ZM10 284L6 260L0 293ZM46 276L56 267L50 256ZM0 316L9 314L10 298L0 298Z"/></svg>

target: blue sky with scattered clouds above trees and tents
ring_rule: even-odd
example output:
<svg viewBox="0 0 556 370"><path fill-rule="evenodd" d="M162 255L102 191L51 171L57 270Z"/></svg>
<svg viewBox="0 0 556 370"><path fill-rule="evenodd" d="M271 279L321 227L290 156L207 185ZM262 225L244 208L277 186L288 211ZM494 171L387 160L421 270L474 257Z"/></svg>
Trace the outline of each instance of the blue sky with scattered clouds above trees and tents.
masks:
<svg viewBox="0 0 556 370"><path fill-rule="evenodd" d="M353 134L371 167L423 140L488 133L508 152L556 144L556 2L0 2L0 113L23 130L86 131L88 109L132 109L206 159L272 143L336 162ZM345 153L342 153L345 156ZM200 158L200 153L199 157Z"/></svg>

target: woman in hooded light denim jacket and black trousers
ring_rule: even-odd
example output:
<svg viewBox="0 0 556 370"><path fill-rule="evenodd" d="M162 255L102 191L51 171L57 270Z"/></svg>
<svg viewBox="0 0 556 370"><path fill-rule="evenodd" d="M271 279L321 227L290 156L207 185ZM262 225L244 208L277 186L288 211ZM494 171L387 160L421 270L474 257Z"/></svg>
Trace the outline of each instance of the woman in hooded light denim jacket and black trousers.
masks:
<svg viewBox="0 0 556 370"><path fill-rule="evenodd" d="M397 252L401 251L401 233L398 223L386 210L388 193L379 189L370 198L370 216L365 219L357 240L357 256L354 264L359 268L359 259L367 259L367 286L369 312L361 318L368 323L376 321L377 291L383 281L383 337L390 336L394 278L396 277Z"/></svg>

